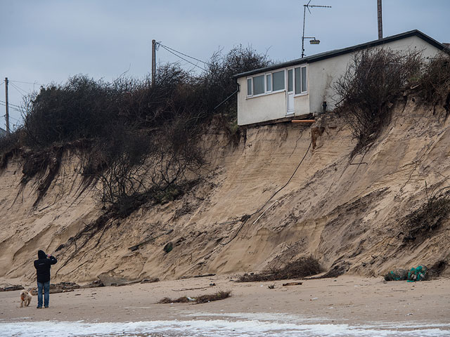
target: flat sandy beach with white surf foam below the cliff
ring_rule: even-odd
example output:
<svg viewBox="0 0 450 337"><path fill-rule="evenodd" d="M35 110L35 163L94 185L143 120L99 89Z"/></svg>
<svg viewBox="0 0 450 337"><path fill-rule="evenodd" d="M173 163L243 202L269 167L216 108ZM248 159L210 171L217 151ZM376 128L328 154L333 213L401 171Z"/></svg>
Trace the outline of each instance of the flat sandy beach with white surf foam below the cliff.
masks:
<svg viewBox="0 0 450 337"><path fill-rule="evenodd" d="M46 324L42 326L44 322L52 322L53 327L56 322L65 322L69 324L61 326L65 333L68 333L68 329L81 330L70 331L72 334L61 336L216 336L208 331L208 326L199 328L191 324L211 324L219 320L231 325L242 323L241 328L233 325L230 330L242 329L236 336L278 336L275 330L295 332L295 327L289 324L312 324L331 329L330 331L337 333L335 336L371 336L373 329L378 331L380 336L392 336L392 333L394 336L450 336L449 279L408 283L384 282L381 277L342 276L336 279L307 279L302 281L302 285L296 286L283 286L287 281L238 283L234 282L234 279L234 275L229 275L77 289L68 293L51 294L50 308L42 310L36 309L36 296L33 296L30 307L19 308L20 291L2 292L0 332L1 336L37 336L39 333L34 331L36 326L39 325L39 331L46 331L50 328L46 328ZM212 283L216 285L210 286ZM275 285L274 289L268 288L271 284ZM219 290L230 290L231 297L198 305L156 304L165 297L195 297ZM80 322L94 330L89 330L91 332L87 334L82 332L81 327L73 325ZM147 326L150 330L144 329L143 326L138 327L138 330L142 329L141 334L130 335L127 334L130 331L126 331L124 326L131 329L131 326L134 326L132 322L153 322L153 325ZM192 329L191 333L172 331L175 322L188 322L185 328ZM281 326L266 326L269 329L267 331L252 330L255 327L260 329L263 322ZM120 323L117 326L121 326L120 335L101 328L111 328L117 323ZM160 329L167 324L169 327L166 330ZM21 332L16 331L18 326L22 326ZM98 330L95 330L94 326L97 326ZM347 326L347 329L336 329L342 326ZM352 330L356 328L358 329ZM136 326L133 329L136 329ZM273 333L270 333L271 329ZM292 336L328 334L327 330L323 329L316 333L315 330L308 330L306 334L297 331L297 334ZM143 332L144 330L147 332ZM226 333L224 326L220 330L224 333L221 336L235 336ZM46 336L57 336L52 335L50 331L53 330L49 330ZM162 334L155 335L156 332L153 331ZM254 333L250 333L251 331Z"/></svg>

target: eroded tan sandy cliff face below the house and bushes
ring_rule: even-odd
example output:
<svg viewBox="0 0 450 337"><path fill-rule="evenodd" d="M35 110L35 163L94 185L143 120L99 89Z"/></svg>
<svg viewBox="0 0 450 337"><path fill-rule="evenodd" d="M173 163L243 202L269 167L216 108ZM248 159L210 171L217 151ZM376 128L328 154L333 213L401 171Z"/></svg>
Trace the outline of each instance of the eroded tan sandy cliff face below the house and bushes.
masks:
<svg viewBox="0 0 450 337"><path fill-rule="evenodd" d="M11 162L0 175L0 278L32 280L38 249L57 256L55 281L76 282L102 272L128 279L248 272L304 255L325 270L361 275L447 259L449 220L412 241L404 229L404 217L428 193L450 185L444 116L440 107L399 104L373 146L351 161L354 143L333 114L313 126L249 128L237 146L211 130L203 139L211 170L203 183L111 220L84 245L70 238L101 215L101 205L95 189L79 195L77 159L66 154L36 207L33 182L20 190L21 167ZM168 242L174 248L165 253Z"/></svg>

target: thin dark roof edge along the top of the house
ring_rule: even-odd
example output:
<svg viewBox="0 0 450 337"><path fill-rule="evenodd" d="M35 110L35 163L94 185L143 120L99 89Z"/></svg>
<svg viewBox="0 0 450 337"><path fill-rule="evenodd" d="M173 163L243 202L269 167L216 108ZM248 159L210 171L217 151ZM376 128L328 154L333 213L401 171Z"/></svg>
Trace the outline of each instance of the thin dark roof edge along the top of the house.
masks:
<svg viewBox="0 0 450 337"><path fill-rule="evenodd" d="M428 35L423 34L423 32L420 32L420 30L414 29L409 32L392 35L392 37L385 37L383 39L377 39L374 41L366 42L364 44L357 44L356 46L351 46L351 47L342 48L342 49L335 49L333 51L326 51L325 53L319 53L316 55L307 56L306 58L297 58L296 60L278 63L276 65L269 65L269 67L250 70L249 72L241 72L240 74L234 75L233 78L250 76L250 75L254 75L254 74L259 74L260 72L269 72L271 70L276 70L278 68L290 67L293 65L301 65L303 63L317 62L317 61L325 60L326 58L334 58L335 56L352 53L354 51L361 51L362 49L365 49L365 48L380 46L382 44L387 44L392 41L406 39L407 37L420 37L420 39L427 41L429 44L431 44L432 46L435 46L436 48L440 49L441 51L450 53L450 48L444 46L444 44L441 44L440 42L436 41L435 39L432 39Z"/></svg>

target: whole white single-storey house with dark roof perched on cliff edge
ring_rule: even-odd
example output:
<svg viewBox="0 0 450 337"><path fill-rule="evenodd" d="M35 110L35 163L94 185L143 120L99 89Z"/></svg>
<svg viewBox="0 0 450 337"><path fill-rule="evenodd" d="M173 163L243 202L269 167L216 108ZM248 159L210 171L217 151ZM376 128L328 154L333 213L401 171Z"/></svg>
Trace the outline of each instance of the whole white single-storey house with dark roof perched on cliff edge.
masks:
<svg viewBox="0 0 450 337"><path fill-rule="evenodd" d="M239 84L238 125L283 121L333 110L333 83L357 51L365 48L423 51L430 58L449 48L418 30L271 65L234 77Z"/></svg>

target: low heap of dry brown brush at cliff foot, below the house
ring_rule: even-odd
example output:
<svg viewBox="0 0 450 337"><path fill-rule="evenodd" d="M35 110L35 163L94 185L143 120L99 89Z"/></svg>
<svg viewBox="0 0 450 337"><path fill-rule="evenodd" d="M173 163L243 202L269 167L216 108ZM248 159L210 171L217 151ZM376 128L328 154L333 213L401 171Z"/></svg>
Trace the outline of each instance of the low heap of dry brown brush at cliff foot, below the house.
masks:
<svg viewBox="0 0 450 337"><path fill-rule="evenodd" d="M277 279L300 279L321 272L319 262L312 257L304 257L288 263L280 269L265 270L259 274L244 274L237 282L276 281Z"/></svg>

